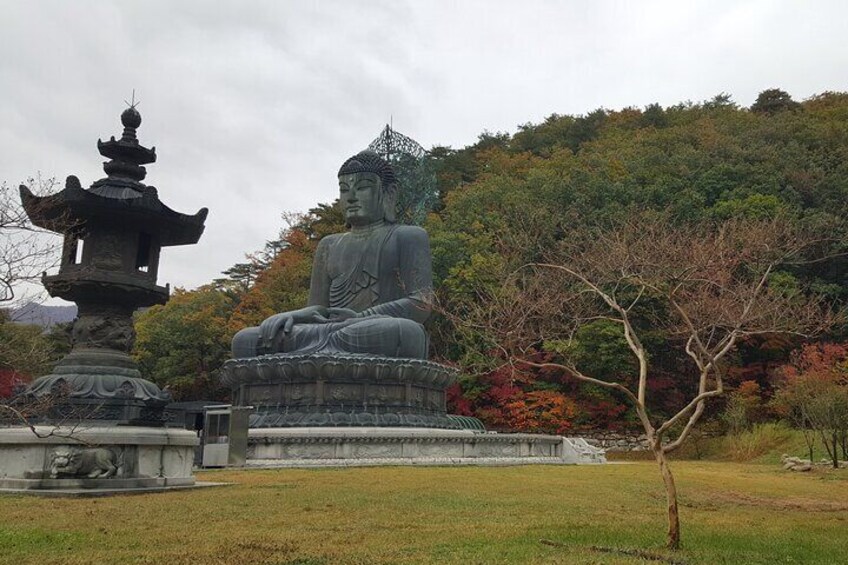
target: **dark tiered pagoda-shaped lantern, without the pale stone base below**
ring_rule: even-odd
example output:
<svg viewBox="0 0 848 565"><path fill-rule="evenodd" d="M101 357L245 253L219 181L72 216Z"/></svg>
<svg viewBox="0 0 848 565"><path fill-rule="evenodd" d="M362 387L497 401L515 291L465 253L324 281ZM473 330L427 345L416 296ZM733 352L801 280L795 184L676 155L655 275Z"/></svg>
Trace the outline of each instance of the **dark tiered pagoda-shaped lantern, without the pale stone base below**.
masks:
<svg viewBox="0 0 848 565"><path fill-rule="evenodd" d="M97 142L109 159L103 164L106 178L83 189L70 176L64 190L44 197L21 186L33 224L64 235L59 272L45 273L42 282L50 296L79 309L71 353L26 394L61 399L54 407L59 417L161 425L170 395L142 379L129 355L132 314L168 300L168 287L156 284L160 250L196 243L207 209L189 216L165 206L156 189L141 182L147 174L143 165L156 161L155 148L136 137L141 115L127 108L121 123L120 139Z"/></svg>

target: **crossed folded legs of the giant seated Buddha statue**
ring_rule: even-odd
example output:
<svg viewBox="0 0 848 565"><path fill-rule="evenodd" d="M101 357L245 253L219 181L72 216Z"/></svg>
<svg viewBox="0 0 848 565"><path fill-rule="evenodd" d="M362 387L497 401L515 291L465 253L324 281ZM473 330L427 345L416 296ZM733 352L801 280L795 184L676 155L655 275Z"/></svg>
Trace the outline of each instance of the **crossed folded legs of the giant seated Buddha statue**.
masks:
<svg viewBox="0 0 848 565"><path fill-rule="evenodd" d="M233 337L233 357L258 354L259 328L245 328ZM402 359L426 359L424 326L406 318L373 316L327 324L297 324L275 340L273 353L367 353Z"/></svg>

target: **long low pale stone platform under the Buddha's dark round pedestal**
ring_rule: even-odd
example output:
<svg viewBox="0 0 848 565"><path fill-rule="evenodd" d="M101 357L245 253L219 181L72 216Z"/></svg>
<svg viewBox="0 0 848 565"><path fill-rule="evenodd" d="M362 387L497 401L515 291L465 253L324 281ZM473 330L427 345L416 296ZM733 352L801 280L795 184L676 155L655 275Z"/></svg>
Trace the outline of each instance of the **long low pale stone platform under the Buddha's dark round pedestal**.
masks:
<svg viewBox="0 0 848 565"><path fill-rule="evenodd" d="M580 438L431 428L260 428L250 467L605 463Z"/></svg>

